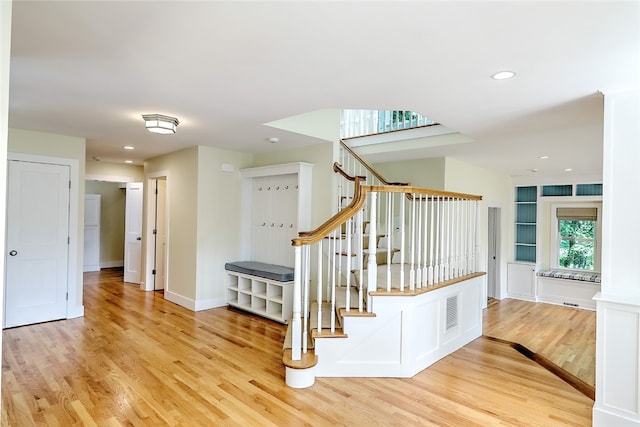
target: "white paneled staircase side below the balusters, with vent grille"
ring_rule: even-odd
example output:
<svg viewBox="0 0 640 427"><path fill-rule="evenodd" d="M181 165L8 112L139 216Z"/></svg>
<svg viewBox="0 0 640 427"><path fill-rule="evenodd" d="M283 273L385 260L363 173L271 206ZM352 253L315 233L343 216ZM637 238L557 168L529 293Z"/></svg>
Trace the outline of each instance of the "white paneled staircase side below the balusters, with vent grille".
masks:
<svg viewBox="0 0 640 427"><path fill-rule="evenodd" d="M348 338L316 338L318 363L307 375L416 375L482 334L485 281L482 275L415 296L376 295L375 317L343 319Z"/></svg>

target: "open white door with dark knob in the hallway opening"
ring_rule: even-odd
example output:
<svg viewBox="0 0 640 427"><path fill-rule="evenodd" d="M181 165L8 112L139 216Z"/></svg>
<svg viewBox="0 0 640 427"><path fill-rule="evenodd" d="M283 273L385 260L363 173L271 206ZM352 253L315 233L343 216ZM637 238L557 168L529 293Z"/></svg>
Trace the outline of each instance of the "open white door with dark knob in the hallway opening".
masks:
<svg viewBox="0 0 640 427"><path fill-rule="evenodd" d="M128 182L124 219L124 281L140 283L142 259L142 183Z"/></svg>

